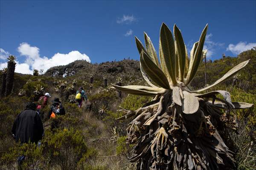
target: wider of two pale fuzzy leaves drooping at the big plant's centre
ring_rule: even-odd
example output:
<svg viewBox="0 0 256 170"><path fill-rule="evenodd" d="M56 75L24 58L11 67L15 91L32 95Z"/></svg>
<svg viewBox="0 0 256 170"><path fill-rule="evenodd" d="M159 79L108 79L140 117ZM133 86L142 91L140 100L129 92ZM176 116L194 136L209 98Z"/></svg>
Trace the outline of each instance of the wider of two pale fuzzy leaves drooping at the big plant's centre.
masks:
<svg viewBox="0 0 256 170"><path fill-rule="evenodd" d="M195 97L193 94L183 91L183 100L182 102L182 111L185 114L192 114L198 111L199 102L198 98Z"/></svg>

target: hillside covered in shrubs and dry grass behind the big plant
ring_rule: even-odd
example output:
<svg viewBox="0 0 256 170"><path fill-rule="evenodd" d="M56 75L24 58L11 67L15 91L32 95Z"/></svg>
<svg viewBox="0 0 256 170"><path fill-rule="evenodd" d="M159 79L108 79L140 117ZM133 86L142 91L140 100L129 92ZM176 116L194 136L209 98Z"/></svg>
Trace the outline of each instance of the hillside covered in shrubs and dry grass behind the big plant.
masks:
<svg viewBox="0 0 256 170"><path fill-rule="evenodd" d="M212 84L247 59L251 59L249 64L217 89L229 91L233 101L256 103L256 48L244 51L238 57L207 62L207 84ZM190 84L191 89L204 87L204 69L202 62ZM93 77L93 83L90 83L90 77ZM104 79L107 79L107 86L104 85ZM12 95L0 101L0 169L15 169L17 155L24 150L23 147L30 148L25 164L27 169L133 169L134 164L127 159L133 145L126 143L126 128L131 118L115 120L125 114L116 110L121 106L134 111L150 101L151 97L120 94L110 88L111 83L117 82L121 85L145 85L139 61L124 59L91 64L78 60L52 67L39 76L15 74ZM59 127L54 133L50 130L52 120L44 116L45 136L39 149L30 145L15 145L10 135L13 121L26 102L38 100L39 96L34 93L35 85L42 85L44 91L41 93L50 93L52 99L59 97L67 112L56 119ZM79 109L73 103L73 95L81 86L87 93L88 102L84 102ZM23 89L23 94L18 95L20 89ZM45 113L48 110L49 105L44 109ZM229 145L237 153L238 169L253 170L256 168L256 108L236 110L234 114L239 122L239 130L230 132L229 138L235 143Z"/></svg>

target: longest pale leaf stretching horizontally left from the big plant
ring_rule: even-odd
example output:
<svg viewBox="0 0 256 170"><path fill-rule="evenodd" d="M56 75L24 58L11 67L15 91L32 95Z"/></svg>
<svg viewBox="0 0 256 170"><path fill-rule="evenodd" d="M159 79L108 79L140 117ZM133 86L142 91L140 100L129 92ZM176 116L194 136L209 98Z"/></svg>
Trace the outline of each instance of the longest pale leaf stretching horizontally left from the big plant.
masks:
<svg viewBox="0 0 256 170"><path fill-rule="evenodd" d="M144 90L132 88L132 86L129 86L128 88L126 88L125 86L118 86L118 85L113 85L113 84L111 84L111 85L120 91L124 91L129 94L135 94L135 95L154 96L154 95L162 93L161 91L144 91Z"/></svg>

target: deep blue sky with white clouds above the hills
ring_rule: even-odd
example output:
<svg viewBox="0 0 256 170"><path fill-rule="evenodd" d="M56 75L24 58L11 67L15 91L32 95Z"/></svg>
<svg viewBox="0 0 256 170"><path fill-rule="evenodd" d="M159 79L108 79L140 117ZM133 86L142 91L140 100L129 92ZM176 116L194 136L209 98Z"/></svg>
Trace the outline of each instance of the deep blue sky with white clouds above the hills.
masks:
<svg viewBox="0 0 256 170"><path fill-rule="evenodd" d="M208 23L209 59L237 56L256 46L256 1L0 1L0 58L17 57L30 73L75 59L139 59L134 42L143 31L158 51L161 23L176 23L187 48Z"/></svg>

